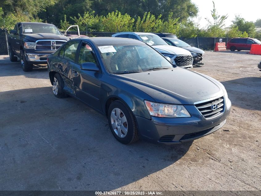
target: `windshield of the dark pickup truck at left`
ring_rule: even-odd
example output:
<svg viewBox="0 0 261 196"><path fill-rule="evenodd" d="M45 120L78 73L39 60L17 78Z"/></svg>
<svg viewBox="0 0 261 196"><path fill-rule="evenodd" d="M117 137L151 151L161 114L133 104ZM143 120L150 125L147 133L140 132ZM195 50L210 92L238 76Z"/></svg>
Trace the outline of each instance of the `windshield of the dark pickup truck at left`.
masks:
<svg viewBox="0 0 261 196"><path fill-rule="evenodd" d="M61 35L56 26L49 24L23 24L23 33L52 33Z"/></svg>

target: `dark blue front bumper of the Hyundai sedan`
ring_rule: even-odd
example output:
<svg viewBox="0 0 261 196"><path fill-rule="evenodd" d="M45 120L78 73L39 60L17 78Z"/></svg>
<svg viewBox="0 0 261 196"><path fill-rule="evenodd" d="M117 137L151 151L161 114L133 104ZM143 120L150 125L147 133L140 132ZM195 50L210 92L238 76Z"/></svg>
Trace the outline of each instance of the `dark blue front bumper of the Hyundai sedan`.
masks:
<svg viewBox="0 0 261 196"><path fill-rule="evenodd" d="M227 107L228 106L228 107ZM227 101L224 112L214 118L205 119L194 105L185 105L190 112L189 118L160 118L151 120L136 116L141 137L149 142L179 144L204 137L221 128L230 113L231 102Z"/></svg>

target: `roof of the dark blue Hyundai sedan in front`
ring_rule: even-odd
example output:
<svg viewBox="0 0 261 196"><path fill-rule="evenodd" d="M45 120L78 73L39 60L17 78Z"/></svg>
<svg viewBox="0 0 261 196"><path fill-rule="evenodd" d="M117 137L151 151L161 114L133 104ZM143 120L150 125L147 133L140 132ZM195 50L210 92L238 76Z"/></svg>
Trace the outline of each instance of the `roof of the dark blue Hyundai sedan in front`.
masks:
<svg viewBox="0 0 261 196"><path fill-rule="evenodd" d="M76 40L76 39L73 39ZM106 44L145 44L142 41L136 39L122 38L122 37L86 37L80 38L80 40L91 40L96 45L106 45Z"/></svg>

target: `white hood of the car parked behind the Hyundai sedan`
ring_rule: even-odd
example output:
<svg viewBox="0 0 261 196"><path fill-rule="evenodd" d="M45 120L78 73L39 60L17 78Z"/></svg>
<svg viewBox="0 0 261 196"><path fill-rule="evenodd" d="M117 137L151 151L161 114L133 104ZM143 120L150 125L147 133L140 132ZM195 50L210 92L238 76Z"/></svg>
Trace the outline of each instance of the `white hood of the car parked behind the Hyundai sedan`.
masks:
<svg viewBox="0 0 261 196"><path fill-rule="evenodd" d="M190 52L183 48L179 48L176 46L169 46L169 45L158 45L158 46L152 46L155 50L157 50L160 53L165 54L176 54L176 55L191 55Z"/></svg>

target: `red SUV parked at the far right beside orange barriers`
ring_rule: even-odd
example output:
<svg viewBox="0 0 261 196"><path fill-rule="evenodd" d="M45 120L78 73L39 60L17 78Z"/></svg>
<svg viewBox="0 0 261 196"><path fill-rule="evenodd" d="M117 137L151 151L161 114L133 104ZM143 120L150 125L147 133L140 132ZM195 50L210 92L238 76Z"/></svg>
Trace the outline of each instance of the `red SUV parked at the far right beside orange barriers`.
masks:
<svg viewBox="0 0 261 196"><path fill-rule="evenodd" d="M227 49L235 50L250 50L252 44L261 44L261 41L253 38L232 38L227 42Z"/></svg>

